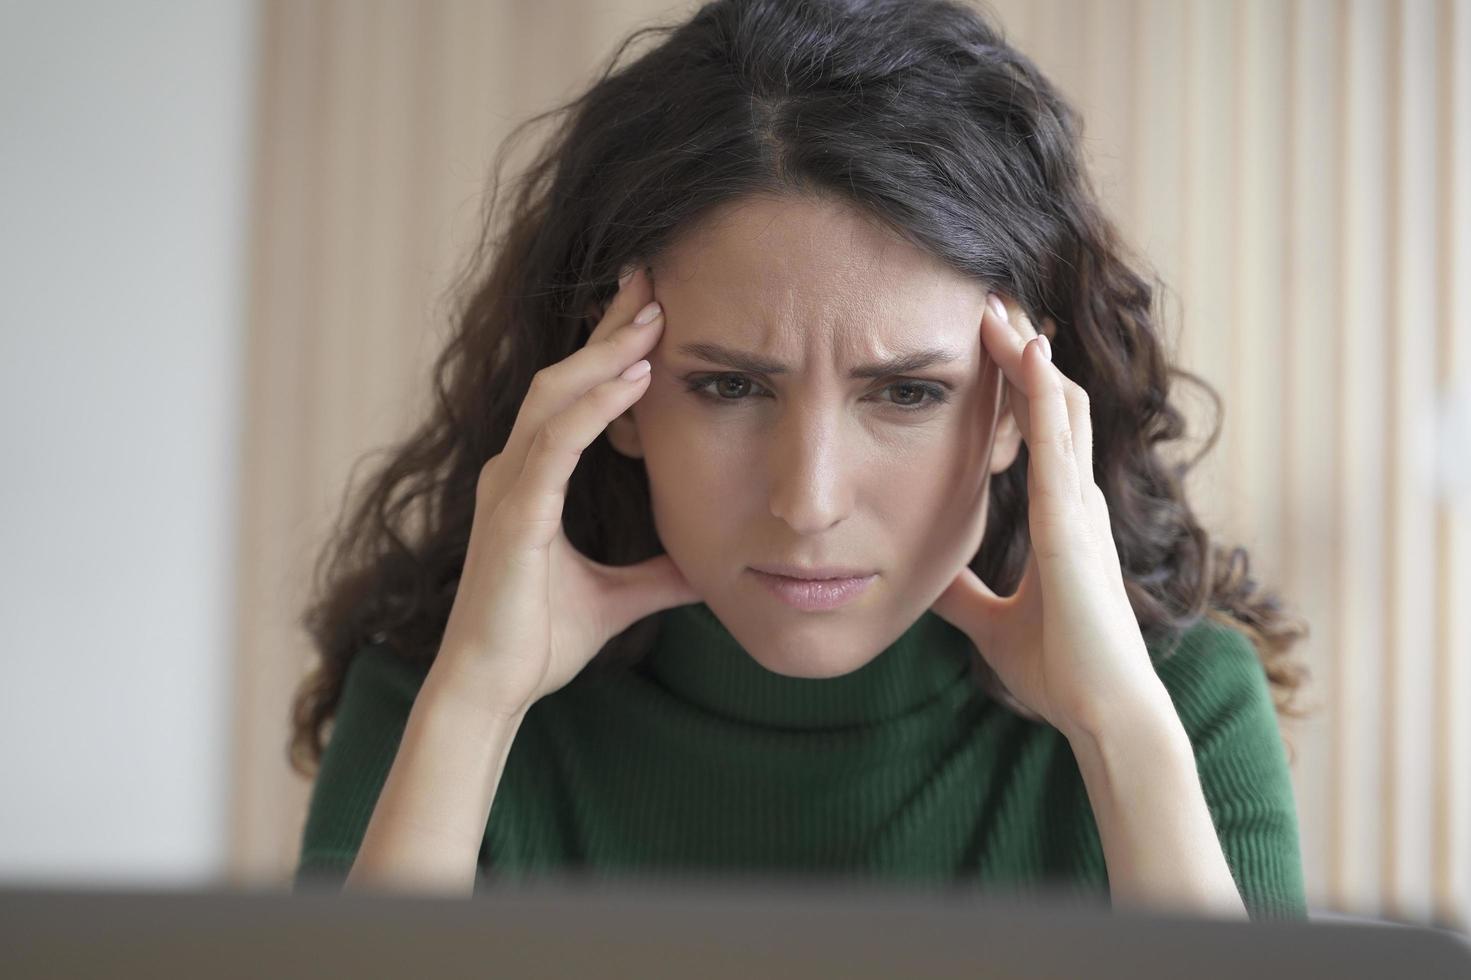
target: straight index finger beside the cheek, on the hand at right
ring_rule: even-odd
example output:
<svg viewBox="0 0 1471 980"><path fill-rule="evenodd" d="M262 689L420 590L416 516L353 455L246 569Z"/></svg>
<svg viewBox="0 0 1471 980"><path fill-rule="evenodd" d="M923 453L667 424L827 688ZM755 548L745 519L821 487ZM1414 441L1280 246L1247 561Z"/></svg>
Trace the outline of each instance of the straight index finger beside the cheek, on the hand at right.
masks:
<svg viewBox="0 0 1471 980"><path fill-rule="evenodd" d="M1064 377L1052 366L1031 340L1022 352L1022 383L1031 434L1027 437L1030 458L1028 511L1031 512L1033 544L1039 558L1059 558L1080 540L1087 524L1078 481L1077 456Z"/></svg>

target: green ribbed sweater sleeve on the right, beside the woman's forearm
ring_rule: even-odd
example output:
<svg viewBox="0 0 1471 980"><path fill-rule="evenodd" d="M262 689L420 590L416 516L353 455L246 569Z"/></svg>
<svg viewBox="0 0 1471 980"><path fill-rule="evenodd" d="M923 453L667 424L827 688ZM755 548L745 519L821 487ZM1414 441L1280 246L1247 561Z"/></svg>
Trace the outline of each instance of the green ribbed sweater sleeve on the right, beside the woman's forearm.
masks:
<svg viewBox="0 0 1471 980"><path fill-rule="evenodd" d="M1190 737L1247 914L1308 918L1292 774L1256 647L1246 633L1203 621L1156 671Z"/></svg>

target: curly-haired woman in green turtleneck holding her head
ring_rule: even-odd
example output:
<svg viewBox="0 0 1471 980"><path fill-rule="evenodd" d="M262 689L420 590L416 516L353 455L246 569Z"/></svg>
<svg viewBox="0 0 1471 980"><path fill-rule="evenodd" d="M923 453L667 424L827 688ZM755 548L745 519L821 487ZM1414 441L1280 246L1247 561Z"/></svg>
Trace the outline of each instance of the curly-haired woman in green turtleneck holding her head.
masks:
<svg viewBox="0 0 1471 980"><path fill-rule="evenodd" d="M1303 917L1305 627L1159 453L1184 372L1074 112L943 0L659 32L487 224L437 408L330 552L297 880Z"/></svg>

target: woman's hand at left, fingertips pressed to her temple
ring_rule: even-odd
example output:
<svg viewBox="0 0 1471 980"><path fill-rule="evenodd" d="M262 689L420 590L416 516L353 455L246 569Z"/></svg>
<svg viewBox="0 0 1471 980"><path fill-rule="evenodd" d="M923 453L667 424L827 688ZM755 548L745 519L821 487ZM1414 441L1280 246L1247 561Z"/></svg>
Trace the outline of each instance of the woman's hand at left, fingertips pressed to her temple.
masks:
<svg viewBox="0 0 1471 980"><path fill-rule="evenodd" d="M563 687L608 640L638 619L699 602L668 555L602 565L562 530L566 484L584 449L649 388L627 380L663 331L634 316L653 300L643 269L619 291L569 358L535 374L506 446L475 489L469 547L440 658L455 684L506 717Z"/></svg>

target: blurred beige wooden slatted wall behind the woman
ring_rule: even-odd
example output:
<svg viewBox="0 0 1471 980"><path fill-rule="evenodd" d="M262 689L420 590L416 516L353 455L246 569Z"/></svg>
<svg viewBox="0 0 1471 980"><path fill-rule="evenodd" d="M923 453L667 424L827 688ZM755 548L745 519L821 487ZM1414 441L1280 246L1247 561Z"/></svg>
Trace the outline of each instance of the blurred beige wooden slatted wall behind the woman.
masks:
<svg viewBox="0 0 1471 980"><path fill-rule="evenodd" d="M990 9L1081 109L1108 205L1168 287L1171 347L1224 396L1199 508L1312 624L1319 708L1286 725L1309 902L1464 928L1471 0ZM310 562L352 462L427 411L500 140L628 29L688 10L266 0L234 880L294 867ZM1203 437L1209 403L1183 394Z"/></svg>

